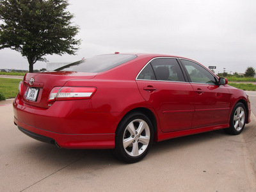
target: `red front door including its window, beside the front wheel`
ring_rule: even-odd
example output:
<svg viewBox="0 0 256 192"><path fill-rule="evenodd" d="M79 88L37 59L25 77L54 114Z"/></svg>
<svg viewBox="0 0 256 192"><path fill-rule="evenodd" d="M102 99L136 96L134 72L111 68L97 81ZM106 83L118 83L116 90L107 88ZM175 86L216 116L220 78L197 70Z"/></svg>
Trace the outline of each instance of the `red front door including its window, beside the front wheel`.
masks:
<svg viewBox="0 0 256 192"><path fill-rule="evenodd" d="M227 124L230 92L217 83L209 70L190 60L181 60L187 70L195 94L195 114L192 128Z"/></svg>

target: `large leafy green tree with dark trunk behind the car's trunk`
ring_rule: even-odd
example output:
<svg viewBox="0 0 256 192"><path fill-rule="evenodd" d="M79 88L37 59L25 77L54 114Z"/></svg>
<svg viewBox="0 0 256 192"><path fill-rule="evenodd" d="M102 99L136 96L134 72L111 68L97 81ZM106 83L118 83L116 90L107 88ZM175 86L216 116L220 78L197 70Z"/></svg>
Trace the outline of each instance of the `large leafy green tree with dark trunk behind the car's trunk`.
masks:
<svg viewBox="0 0 256 192"><path fill-rule="evenodd" d="M75 54L79 27L71 25L67 6L67 0L0 0L0 49L19 51L29 72L47 54Z"/></svg>

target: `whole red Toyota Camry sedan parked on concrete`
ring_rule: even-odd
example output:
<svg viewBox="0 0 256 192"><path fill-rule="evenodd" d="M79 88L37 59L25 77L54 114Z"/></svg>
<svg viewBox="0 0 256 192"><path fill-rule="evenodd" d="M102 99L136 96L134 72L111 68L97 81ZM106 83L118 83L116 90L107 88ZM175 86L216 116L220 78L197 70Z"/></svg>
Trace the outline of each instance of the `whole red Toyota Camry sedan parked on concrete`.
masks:
<svg viewBox="0 0 256 192"><path fill-rule="evenodd" d="M145 157L153 141L250 122L250 100L196 61L161 54L105 54L54 72L28 73L13 102L28 136L61 148L113 148Z"/></svg>

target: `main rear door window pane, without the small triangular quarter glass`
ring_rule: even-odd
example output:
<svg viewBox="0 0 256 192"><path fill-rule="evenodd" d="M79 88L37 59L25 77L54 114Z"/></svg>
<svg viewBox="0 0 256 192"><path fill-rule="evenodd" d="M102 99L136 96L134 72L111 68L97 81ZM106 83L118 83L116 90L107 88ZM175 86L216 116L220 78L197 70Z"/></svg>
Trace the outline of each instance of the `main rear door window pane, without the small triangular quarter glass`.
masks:
<svg viewBox="0 0 256 192"><path fill-rule="evenodd" d="M158 58L150 62L157 80L185 81L179 63L176 59Z"/></svg>

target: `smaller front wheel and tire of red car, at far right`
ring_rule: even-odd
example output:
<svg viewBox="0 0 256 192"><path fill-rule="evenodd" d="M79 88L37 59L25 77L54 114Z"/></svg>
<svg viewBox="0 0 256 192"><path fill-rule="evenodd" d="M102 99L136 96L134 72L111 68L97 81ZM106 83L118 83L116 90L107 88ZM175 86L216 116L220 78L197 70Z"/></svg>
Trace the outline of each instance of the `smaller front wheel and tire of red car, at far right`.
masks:
<svg viewBox="0 0 256 192"><path fill-rule="evenodd" d="M232 135L240 134L244 130L247 113L244 104L237 102L230 116L229 128L225 132Z"/></svg>

